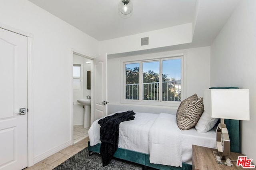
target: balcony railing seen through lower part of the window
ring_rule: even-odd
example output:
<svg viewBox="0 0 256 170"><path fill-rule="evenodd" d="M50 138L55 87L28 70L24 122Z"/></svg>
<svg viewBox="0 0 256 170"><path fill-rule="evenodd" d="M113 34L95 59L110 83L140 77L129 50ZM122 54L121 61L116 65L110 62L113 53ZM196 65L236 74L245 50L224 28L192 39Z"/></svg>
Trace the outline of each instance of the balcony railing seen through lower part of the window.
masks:
<svg viewBox="0 0 256 170"><path fill-rule="evenodd" d="M159 82L142 83L143 94L142 100L159 101L160 88ZM180 80L162 82L162 101L180 101L181 82ZM140 99L140 84L126 85L126 99Z"/></svg>

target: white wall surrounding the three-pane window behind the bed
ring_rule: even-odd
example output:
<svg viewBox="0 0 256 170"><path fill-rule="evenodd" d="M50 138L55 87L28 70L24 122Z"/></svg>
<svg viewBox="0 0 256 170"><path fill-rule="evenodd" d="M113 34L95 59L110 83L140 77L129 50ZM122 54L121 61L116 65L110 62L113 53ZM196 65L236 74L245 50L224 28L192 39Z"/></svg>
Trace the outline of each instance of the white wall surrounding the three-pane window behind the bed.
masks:
<svg viewBox="0 0 256 170"><path fill-rule="evenodd" d="M176 113L177 107L161 107L153 105L124 105L121 104L121 86L123 61L136 61L138 59L150 59L161 56L174 56L186 54L186 93L184 99L196 93L198 97L204 95L204 89L210 87L210 47L200 47L132 57L120 57L108 59L108 114L115 111L134 110L149 113Z"/></svg>

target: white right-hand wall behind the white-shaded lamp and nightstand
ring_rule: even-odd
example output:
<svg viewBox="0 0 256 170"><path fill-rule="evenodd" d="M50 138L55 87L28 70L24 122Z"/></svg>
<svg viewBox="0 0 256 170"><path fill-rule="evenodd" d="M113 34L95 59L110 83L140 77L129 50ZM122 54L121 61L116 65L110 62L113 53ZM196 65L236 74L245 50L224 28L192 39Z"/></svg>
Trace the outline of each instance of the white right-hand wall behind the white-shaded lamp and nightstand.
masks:
<svg viewBox="0 0 256 170"><path fill-rule="evenodd" d="M256 1L243 0L211 45L211 86L250 89L250 121L241 121L242 153L256 160ZM242 114L242 113L241 113Z"/></svg>

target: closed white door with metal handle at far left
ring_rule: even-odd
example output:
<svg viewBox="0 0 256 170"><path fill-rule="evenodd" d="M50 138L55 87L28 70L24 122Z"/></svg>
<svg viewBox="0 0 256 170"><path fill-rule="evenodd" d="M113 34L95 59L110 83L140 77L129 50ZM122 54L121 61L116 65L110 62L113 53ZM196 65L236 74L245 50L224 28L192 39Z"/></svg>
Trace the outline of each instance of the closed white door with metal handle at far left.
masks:
<svg viewBox="0 0 256 170"><path fill-rule="evenodd" d="M2 28L0 108L0 170L21 170L28 166L27 37Z"/></svg>

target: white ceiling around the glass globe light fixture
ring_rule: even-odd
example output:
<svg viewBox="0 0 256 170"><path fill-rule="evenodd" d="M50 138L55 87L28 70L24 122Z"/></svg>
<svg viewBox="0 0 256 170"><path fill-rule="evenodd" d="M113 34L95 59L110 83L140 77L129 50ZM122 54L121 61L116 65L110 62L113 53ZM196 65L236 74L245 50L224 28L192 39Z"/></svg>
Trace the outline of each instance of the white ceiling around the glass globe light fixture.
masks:
<svg viewBox="0 0 256 170"><path fill-rule="evenodd" d="M120 0L29 0L96 40L194 23L193 43L209 45L240 0L131 0L133 14L121 18Z"/></svg>

